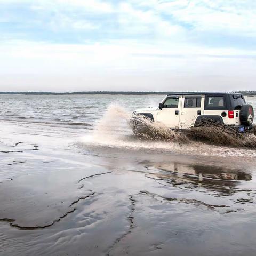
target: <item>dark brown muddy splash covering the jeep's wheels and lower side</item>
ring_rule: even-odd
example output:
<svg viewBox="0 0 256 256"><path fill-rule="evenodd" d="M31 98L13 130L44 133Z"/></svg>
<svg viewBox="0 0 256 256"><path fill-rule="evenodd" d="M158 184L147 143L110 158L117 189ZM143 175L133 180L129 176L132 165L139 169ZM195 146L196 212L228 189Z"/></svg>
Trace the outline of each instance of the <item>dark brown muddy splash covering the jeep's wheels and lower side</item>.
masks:
<svg viewBox="0 0 256 256"><path fill-rule="evenodd" d="M189 130L172 130L158 124L146 116L138 115L131 120L136 137L147 140L177 141L191 143L193 141L229 147L256 148L255 126L246 133L212 120L204 120L197 127Z"/></svg>

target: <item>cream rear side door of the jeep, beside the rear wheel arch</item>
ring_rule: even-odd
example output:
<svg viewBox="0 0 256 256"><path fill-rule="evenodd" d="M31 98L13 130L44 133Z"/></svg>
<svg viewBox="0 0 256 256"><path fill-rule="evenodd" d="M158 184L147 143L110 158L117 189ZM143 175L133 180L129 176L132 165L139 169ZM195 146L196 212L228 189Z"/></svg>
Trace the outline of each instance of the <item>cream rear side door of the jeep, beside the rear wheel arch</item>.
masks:
<svg viewBox="0 0 256 256"><path fill-rule="evenodd" d="M196 118L204 114L204 95L183 95L180 114L181 129L194 126Z"/></svg>

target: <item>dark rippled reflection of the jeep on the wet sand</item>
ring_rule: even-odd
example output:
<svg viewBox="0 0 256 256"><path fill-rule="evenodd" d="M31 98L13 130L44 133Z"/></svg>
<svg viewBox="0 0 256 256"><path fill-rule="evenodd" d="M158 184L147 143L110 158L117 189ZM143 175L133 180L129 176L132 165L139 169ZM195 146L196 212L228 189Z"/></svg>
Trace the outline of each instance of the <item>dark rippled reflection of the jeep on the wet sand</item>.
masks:
<svg viewBox="0 0 256 256"><path fill-rule="evenodd" d="M168 201L207 205L219 213L246 211L246 206L241 207L237 204L253 203L256 190L243 186L247 181L252 180L251 173L246 170L230 170L220 166L187 165L177 162L143 161L141 164L148 171L146 177L155 180L159 185L163 185L171 195L166 196L169 193L165 192L163 197L160 194L144 191L144 193L154 197L160 196ZM178 189L178 197L176 193L173 197L173 187L175 190ZM219 210L219 207L223 210Z"/></svg>

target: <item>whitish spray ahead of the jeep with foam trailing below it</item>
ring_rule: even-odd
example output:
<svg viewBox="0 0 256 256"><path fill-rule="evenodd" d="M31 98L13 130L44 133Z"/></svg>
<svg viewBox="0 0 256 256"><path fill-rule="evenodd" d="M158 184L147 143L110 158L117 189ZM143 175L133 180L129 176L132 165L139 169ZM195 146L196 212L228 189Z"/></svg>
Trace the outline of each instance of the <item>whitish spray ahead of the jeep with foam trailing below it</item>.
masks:
<svg viewBox="0 0 256 256"><path fill-rule="evenodd" d="M164 154L256 157L255 149L242 148L242 144L237 144L238 137L234 138L236 143L234 145L231 143L231 146L239 146L239 148L230 147L230 144L228 146L215 145L214 142L217 140L207 141L204 135L205 132L202 132L202 138L200 138L199 134L202 127L198 127L197 130L191 129L189 134L185 134L167 129L157 123L151 123L144 118L142 122L146 124L148 130L144 136L138 136L138 134L135 136L131 129L131 117L131 113L128 113L122 107L110 105L105 115L95 125L93 133L82 138L83 145L89 149L102 148L103 150L115 148L117 150L160 151ZM217 127L210 127L210 129L211 131L207 130L206 133L210 132L211 136L214 136L214 129L217 129L215 131L216 135L221 133ZM227 131L223 132L226 132L223 136L232 141L232 134L227 134ZM195 136L193 137L191 134L195 134ZM256 141L255 138L253 133L246 135L246 141ZM207 142L212 144L210 145Z"/></svg>

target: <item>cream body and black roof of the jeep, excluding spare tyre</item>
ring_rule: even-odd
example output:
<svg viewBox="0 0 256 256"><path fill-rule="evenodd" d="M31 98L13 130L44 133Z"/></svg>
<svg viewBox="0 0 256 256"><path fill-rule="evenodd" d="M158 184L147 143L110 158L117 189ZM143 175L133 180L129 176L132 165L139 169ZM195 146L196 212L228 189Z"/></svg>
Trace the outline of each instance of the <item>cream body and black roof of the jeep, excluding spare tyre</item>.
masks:
<svg viewBox="0 0 256 256"><path fill-rule="evenodd" d="M178 105L170 103L172 100L169 99L172 98L179 99ZM195 98L201 99L200 106L197 103L196 105L187 103L189 99L195 102ZM169 103L165 104L165 102ZM135 110L134 113L151 113L155 122L171 129L189 129L194 126L198 116L204 115L219 116L225 125L241 126L240 109L246 104L243 95L238 93L174 93L167 94L161 103L162 109L141 108ZM234 118L230 118L229 111L233 111Z"/></svg>

